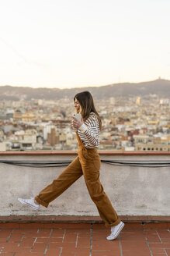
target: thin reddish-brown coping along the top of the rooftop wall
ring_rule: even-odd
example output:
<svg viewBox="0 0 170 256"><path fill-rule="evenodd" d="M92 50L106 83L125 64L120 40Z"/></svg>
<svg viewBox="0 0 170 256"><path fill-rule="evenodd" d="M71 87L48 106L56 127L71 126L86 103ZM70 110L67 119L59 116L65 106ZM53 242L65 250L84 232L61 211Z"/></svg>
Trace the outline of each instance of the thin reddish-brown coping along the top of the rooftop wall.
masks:
<svg viewBox="0 0 170 256"><path fill-rule="evenodd" d="M77 151L0 151L0 155L77 155ZM99 155L170 155L169 151L99 151Z"/></svg>

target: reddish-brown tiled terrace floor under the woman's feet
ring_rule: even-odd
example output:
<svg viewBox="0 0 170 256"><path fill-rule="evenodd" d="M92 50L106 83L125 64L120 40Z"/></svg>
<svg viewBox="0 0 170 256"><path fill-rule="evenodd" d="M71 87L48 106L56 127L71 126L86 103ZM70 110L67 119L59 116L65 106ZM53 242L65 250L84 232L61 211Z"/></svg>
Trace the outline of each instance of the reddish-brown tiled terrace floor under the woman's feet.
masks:
<svg viewBox="0 0 170 256"><path fill-rule="evenodd" d="M170 256L169 223L127 223L107 241L103 224L0 223L0 254L5 256Z"/></svg>

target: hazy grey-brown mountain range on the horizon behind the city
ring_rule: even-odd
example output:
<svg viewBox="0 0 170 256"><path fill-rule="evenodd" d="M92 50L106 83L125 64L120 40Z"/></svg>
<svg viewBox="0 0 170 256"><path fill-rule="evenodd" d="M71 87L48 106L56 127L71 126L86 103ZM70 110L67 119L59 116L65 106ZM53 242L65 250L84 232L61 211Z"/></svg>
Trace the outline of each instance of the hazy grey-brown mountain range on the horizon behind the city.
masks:
<svg viewBox="0 0 170 256"><path fill-rule="evenodd" d="M60 98L73 98L80 91L90 91L94 98L104 99L110 97L142 97L157 94L160 98L170 98L170 80L153 80L142 83L109 84L100 87L76 87L71 89L59 88L33 88L0 86L0 101L19 99L30 100L46 99L57 100Z"/></svg>

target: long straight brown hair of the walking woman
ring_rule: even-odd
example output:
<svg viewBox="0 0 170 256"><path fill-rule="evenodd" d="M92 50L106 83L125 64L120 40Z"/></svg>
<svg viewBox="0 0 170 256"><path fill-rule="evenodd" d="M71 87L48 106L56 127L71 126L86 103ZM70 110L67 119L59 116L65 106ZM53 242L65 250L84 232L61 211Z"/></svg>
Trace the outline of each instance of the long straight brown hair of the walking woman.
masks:
<svg viewBox="0 0 170 256"><path fill-rule="evenodd" d="M81 105L81 108L82 108L81 114L82 114L83 120L85 121L86 119L88 119L88 116L90 115L90 113L94 112L99 121L99 128L101 130L102 129L102 121L99 117L98 112L95 109L92 94L89 91L82 91L75 95L74 101L75 101L75 99L77 99L79 104Z"/></svg>

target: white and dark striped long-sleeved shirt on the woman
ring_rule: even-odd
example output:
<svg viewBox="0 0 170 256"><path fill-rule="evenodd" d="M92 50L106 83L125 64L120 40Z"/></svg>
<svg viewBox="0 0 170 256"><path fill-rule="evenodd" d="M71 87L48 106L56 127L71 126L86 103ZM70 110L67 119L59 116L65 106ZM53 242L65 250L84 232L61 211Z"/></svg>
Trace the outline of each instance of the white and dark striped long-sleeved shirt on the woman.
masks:
<svg viewBox="0 0 170 256"><path fill-rule="evenodd" d="M91 112L85 123L78 128L78 136L85 148L99 147L99 121L94 112Z"/></svg>

